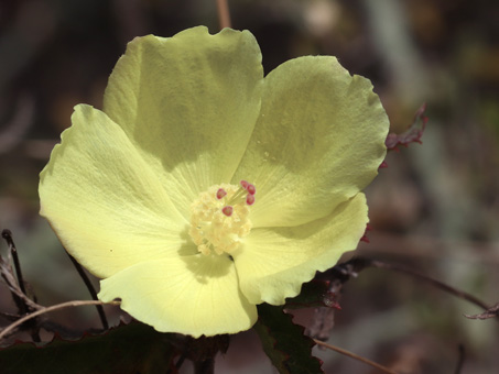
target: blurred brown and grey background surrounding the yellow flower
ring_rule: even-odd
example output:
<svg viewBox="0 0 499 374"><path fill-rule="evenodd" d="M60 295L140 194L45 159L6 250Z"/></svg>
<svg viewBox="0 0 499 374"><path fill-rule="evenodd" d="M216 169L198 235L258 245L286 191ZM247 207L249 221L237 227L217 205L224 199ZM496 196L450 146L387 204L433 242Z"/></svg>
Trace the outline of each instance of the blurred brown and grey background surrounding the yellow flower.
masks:
<svg viewBox="0 0 499 374"><path fill-rule="evenodd" d="M373 230L357 254L499 301L499 2L229 4L232 26L257 36L267 73L293 57L335 55L373 81L393 132L404 131L427 103L423 144L391 152L367 191ZM39 173L73 107L101 108L107 78L134 36L172 36L198 24L218 31L215 0L0 1L0 229L12 231L40 304L89 298L37 216ZM6 249L2 242L2 255ZM0 309L15 311L0 288ZM329 342L400 373L454 373L458 344L462 373L499 371L497 321L464 318L481 310L426 284L367 270L346 285L340 305ZM99 327L93 309L53 318ZM335 352L317 355L327 373L375 373ZM252 332L235 337L217 365L227 373L273 373Z"/></svg>

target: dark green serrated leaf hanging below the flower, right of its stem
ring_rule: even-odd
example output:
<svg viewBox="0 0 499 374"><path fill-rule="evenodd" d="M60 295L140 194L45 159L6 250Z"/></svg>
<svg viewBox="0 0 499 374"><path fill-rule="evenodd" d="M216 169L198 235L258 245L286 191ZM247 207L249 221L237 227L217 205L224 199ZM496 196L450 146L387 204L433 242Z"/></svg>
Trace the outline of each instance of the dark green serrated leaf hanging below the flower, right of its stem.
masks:
<svg viewBox="0 0 499 374"><path fill-rule="evenodd" d="M281 374L324 373L322 362L312 355L314 341L303 334L303 327L294 324L282 307L258 306L259 319L253 329L263 351Z"/></svg>

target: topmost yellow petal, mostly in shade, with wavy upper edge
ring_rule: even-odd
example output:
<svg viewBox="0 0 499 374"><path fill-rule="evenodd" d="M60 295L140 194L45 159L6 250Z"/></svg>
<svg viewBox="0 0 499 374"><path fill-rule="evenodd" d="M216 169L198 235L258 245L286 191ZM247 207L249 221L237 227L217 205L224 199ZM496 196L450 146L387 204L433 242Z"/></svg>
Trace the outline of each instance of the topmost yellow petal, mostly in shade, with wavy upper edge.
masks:
<svg viewBox="0 0 499 374"><path fill-rule="evenodd" d="M210 35L194 28L129 43L109 78L104 111L188 219L200 191L234 175L253 131L262 85L251 33L225 29Z"/></svg>

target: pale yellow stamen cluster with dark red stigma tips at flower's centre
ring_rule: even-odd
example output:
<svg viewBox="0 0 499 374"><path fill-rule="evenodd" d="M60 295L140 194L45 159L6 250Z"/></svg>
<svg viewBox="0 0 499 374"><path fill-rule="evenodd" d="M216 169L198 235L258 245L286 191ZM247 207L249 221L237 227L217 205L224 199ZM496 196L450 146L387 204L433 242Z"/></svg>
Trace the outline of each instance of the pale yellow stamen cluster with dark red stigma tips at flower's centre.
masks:
<svg viewBox="0 0 499 374"><path fill-rule="evenodd" d="M211 186L191 205L191 230L197 250L204 255L231 253L249 234L250 207L256 188L246 180L240 186Z"/></svg>

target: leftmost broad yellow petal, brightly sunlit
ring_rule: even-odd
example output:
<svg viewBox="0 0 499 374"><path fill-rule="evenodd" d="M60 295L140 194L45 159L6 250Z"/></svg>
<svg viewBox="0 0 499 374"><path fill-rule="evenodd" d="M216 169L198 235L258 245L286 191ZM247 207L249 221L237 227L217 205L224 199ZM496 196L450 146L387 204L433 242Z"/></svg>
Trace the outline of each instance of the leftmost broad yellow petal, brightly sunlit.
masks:
<svg viewBox="0 0 499 374"><path fill-rule="evenodd" d="M177 255L187 224L154 172L105 113L77 106L40 174L41 215L97 276Z"/></svg>

